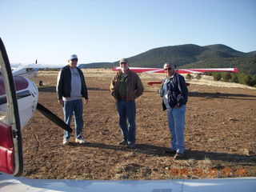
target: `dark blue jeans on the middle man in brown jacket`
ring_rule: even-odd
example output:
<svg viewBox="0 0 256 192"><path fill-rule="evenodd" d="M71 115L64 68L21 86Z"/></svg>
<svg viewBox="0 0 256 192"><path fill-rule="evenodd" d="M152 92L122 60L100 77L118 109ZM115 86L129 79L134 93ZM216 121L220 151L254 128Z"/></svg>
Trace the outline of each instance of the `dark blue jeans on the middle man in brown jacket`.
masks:
<svg viewBox="0 0 256 192"><path fill-rule="evenodd" d="M134 100L126 102L121 99L117 103L118 123L122 132L122 138L128 143L136 142L136 106Z"/></svg>

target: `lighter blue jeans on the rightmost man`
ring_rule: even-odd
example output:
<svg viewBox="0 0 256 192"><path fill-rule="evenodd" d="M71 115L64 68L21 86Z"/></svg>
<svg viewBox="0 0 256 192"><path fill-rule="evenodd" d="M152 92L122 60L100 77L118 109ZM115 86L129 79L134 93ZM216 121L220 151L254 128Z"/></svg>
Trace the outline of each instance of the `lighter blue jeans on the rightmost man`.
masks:
<svg viewBox="0 0 256 192"><path fill-rule="evenodd" d="M184 129L185 129L186 105L168 109L168 123L171 134L170 148L183 154L185 150Z"/></svg>

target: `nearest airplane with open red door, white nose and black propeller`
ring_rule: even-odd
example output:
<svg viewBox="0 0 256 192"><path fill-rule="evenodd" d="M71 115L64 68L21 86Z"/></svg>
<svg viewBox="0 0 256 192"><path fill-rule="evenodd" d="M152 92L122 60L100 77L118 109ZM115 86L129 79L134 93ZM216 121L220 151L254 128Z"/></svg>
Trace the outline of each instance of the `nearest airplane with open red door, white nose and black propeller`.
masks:
<svg viewBox="0 0 256 192"><path fill-rule="evenodd" d="M14 77L0 38L0 192L6 191L140 191L192 192L256 189L256 178L90 181L70 179L30 179L19 177L23 171L22 128L38 109L63 129L70 130L49 110L38 105L38 88L27 78ZM16 88L16 90L15 90ZM22 103L26 103L22 105ZM23 141L26 142L26 141ZM18 178L19 177L19 178Z"/></svg>

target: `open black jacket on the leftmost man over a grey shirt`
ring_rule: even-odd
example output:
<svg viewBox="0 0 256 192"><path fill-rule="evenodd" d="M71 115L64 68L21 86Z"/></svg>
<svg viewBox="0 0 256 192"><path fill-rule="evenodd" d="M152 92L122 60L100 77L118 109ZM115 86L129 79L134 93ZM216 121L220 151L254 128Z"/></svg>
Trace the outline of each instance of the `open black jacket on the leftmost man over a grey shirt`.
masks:
<svg viewBox="0 0 256 192"><path fill-rule="evenodd" d="M85 78L82 74L82 70L80 70L77 67L78 73L81 78L81 94L82 97L88 99L88 93L87 93L87 88L86 88L86 81ZM71 71L70 71L70 66L64 66L59 74L58 82L57 82L57 94L58 94L58 100L64 98L70 98L70 92L71 92Z"/></svg>

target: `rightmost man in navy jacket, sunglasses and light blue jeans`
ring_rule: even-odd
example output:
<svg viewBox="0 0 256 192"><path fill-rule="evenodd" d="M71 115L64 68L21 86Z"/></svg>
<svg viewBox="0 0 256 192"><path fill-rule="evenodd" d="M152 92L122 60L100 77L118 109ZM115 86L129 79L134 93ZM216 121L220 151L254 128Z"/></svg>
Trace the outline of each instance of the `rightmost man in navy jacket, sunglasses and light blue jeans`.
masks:
<svg viewBox="0 0 256 192"><path fill-rule="evenodd" d="M174 73L174 66L166 63L163 68L166 71L166 79L162 82L160 95L163 110L168 110L171 134L170 150L166 152L175 154L175 159L182 159L185 151L184 129L188 90L183 76Z"/></svg>

